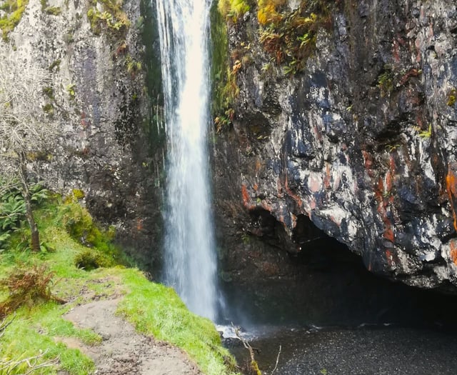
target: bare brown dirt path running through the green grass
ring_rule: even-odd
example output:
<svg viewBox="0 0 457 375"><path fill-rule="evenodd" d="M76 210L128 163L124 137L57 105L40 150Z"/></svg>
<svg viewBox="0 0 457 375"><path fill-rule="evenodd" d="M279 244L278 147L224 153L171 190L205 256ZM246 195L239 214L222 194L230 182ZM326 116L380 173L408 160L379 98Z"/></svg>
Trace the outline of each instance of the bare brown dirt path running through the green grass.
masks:
<svg viewBox="0 0 457 375"><path fill-rule="evenodd" d="M77 306L64 316L80 328L98 333L103 341L86 346L75 339L60 339L94 359L97 375L200 375L181 350L151 337L137 334L134 327L116 316L120 299L94 301Z"/></svg>

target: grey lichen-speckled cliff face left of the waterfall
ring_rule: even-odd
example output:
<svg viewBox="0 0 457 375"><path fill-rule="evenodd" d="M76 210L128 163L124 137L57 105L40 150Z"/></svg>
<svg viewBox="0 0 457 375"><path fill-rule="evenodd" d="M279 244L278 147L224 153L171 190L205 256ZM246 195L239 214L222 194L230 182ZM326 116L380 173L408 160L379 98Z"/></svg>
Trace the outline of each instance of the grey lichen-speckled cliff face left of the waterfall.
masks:
<svg viewBox="0 0 457 375"><path fill-rule="evenodd" d="M30 0L0 49L10 44L14 59L51 71L37 100L59 127L51 149L30 160L38 164L36 179L64 195L84 192L91 214L116 226L119 241L151 266L151 244L160 242L154 202L162 160L141 63L148 53L141 35L151 19L150 12L141 16L140 1L120 4ZM0 16L11 16L4 9Z"/></svg>

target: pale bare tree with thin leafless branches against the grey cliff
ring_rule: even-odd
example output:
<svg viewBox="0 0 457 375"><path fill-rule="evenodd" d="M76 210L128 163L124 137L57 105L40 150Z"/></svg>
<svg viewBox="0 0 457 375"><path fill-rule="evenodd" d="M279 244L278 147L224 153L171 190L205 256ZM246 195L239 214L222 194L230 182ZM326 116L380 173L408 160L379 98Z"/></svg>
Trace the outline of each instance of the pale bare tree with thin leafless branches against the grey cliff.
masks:
<svg viewBox="0 0 457 375"><path fill-rule="evenodd" d="M44 106L51 73L31 61L18 61L11 56L14 51L3 44L0 48L0 177L3 181L19 181L31 230L31 249L39 251L28 164L31 155L46 150L56 131L54 120Z"/></svg>

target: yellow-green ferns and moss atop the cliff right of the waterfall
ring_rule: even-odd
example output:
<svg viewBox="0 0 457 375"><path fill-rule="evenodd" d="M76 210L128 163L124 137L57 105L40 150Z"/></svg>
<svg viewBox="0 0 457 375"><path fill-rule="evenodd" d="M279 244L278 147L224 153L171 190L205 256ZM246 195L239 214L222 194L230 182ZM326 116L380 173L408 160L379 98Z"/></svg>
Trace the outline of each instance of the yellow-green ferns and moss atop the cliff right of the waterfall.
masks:
<svg viewBox="0 0 457 375"><path fill-rule="evenodd" d="M284 74L297 74L316 49L318 31L330 28L332 6L333 2L327 0L301 0L296 9L289 9L286 0L256 0L255 4L246 0L218 1L217 9L211 11L215 82L212 112L217 131L233 120L239 94L238 72L259 58L265 59L251 50L251 44L260 43L270 59L263 71L276 63ZM227 25L238 27L248 11L256 11L258 41L236 41L229 53Z"/></svg>

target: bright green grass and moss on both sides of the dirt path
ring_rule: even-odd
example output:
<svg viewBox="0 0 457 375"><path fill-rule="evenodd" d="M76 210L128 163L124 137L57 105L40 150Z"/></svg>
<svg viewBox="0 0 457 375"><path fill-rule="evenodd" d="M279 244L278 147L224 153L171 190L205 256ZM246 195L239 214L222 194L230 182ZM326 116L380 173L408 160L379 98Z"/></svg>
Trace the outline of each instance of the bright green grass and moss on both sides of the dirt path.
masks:
<svg viewBox="0 0 457 375"><path fill-rule="evenodd" d="M173 289L151 283L137 269L126 268L121 251L110 242L111 231L98 229L76 201L65 203L54 197L36 210L36 221L41 241L49 250L32 253L24 244L28 231L25 228L15 231L9 248L0 253L0 275L4 277L20 267L45 264L54 272L52 294L67 303L34 301L7 316L13 321L0 338L0 361L17 361L45 352L41 361L58 356L59 364L40 369L39 374L56 374L59 370L71 375L92 374L93 361L81 351L69 349L59 338L71 337L87 345L97 345L101 337L89 329L77 329L62 315L78 304L91 301L94 295L108 299L120 294L124 299L119 304L119 314L138 331L184 349L204 374L233 374L230 370L234 369L233 358L221 346L211 321L189 312ZM85 241L91 239L90 248L78 241L81 233L86 235ZM103 255L110 266L93 271L77 268L76 256L88 249ZM0 288L0 302L7 297L8 291ZM24 368L16 370L11 374L25 372Z"/></svg>

